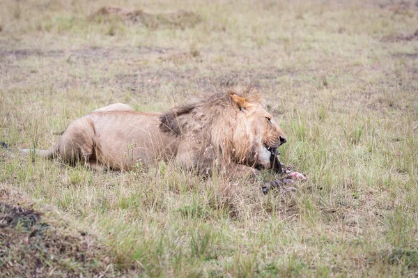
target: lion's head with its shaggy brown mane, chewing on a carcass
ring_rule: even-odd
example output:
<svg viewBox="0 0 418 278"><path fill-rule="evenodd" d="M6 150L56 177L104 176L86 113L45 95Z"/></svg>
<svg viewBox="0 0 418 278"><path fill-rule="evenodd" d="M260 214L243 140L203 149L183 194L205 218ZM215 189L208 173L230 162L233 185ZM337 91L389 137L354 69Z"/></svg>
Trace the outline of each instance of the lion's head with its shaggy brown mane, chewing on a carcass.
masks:
<svg viewBox="0 0 418 278"><path fill-rule="evenodd" d="M216 161L270 169L277 148L286 142L286 135L251 87L229 88L176 107L160 121L164 132L183 137L199 167Z"/></svg>

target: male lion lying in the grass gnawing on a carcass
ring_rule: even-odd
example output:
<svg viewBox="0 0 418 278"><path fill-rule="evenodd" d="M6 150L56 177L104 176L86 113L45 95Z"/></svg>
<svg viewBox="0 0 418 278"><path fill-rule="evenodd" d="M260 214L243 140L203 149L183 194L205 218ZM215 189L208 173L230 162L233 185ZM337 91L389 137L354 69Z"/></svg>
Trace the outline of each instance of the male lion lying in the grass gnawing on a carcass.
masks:
<svg viewBox="0 0 418 278"><path fill-rule="evenodd" d="M130 171L162 160L203 175L219 169L242 176L281 172L277 148L284 143L286 135L260 94L233 87L164 113L109 105L72 121L54 147L22 151L99 170Z"/></svg>

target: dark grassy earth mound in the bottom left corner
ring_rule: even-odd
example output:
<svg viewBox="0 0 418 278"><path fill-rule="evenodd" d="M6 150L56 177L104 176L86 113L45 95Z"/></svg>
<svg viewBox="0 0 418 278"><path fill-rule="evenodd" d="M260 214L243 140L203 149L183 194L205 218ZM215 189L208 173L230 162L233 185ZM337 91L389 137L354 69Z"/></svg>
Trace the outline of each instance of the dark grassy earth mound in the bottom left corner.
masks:
<svg viewBox="0 0 418 278"><path fill-rule="evenodd" d="M93 235L37 208L27 196L0 185L0 276L115 275L110 252Z"/></svg>

